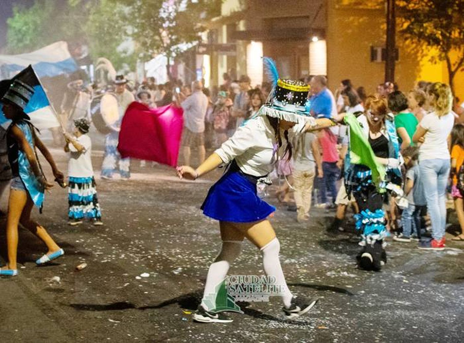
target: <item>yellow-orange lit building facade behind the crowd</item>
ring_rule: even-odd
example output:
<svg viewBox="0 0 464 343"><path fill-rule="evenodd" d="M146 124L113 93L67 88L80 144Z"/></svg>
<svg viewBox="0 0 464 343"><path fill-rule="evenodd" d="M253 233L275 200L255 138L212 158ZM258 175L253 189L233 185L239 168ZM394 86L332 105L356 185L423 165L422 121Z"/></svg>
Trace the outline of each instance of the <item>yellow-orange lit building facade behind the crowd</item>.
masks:
<svg viewBox="0 0 464 343"><path fill-rule="evenodd" d="M281 77L325 74L335 89L342 79L374 92L384 81L382 48L386 40L384 1L361 0L226 0L221 16L208 23L197 68L211 85L242 74L252 84L263 82L261 56L272 57ZM408 90L418 80L447 82L445 62L431 64L429 55L397 36L395 81ZM464 73L455 77L456 95L464 99Z"/></svg>

